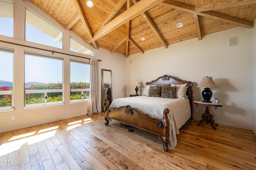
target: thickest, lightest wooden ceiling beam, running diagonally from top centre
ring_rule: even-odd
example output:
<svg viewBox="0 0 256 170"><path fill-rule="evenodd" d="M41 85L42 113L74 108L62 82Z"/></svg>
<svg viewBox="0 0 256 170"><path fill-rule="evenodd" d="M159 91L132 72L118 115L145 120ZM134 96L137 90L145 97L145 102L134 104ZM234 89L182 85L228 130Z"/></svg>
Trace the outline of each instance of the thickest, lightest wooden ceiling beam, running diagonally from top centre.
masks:
<svg viewBox="0 0 256 170"><path fill-rule="evenodd" d="M127 23L128 21L134 19L142 12L145 12L150 8L158 5L162 1L164 0L140 0L140 2L134 4L134 6L132 6L130 9L126 10L125 12L114 18L114 20L108 22L106 25L98 29L98 31L94 33L92 41L96 41L97 39L113 31L114 29L120 27L124 23Z"/></svg>

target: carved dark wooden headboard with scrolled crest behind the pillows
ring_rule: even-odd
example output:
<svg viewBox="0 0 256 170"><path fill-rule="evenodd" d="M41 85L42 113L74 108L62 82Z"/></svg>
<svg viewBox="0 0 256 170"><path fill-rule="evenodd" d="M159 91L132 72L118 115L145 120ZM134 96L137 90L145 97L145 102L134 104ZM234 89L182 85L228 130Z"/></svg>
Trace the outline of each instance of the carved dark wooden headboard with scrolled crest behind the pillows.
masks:
<svg viewBox="0 0 256 170"><path fill-rule="evenodd" d="M185 80L181 80L179 78L173 77L173 76L168 76L168 75L164 75L161 77L158 77L156 80L152 80L151 82L146 82L146 85L155 85L155 84L185 84L187 83L188 89L186 92L186 95L188 95L188 99L189 99L189 104L190 104L190 109L191 109L191 117L190 120L193 120L193 110L192 110L192 82L190 81L185 81Z"/></svg>

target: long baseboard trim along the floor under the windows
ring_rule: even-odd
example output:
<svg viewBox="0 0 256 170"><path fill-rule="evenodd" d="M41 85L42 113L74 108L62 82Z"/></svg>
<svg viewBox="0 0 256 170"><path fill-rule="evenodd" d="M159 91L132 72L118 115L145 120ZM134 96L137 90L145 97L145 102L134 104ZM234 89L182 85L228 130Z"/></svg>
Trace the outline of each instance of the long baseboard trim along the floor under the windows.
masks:
<svg viewBox="0 0 256 170"><path fill-rule="evenodd" d="M26 125L9 127L9 128L5 128L5 129L1 129L0 133L4 133L4 132L8 132L8 131L14 131L14 130L17 130L17 129L22 129L22 128L26 128L26 127L32 127L32 126L36 126L36 125L42 125L42 124L45 124L45 123L50 123L50 122L54 122L54 121L60 121L60 120L69 119L69 118L78 117L78 116L83 116L83 115L87 115L87 114L88 114L88 112L87 113L79 113L79 114L76 114L76 115L68 115L66 117L61 117L59 119L52 119L52 120L49 120L49 121L34 122L34 123L26 124Z"/></svg>

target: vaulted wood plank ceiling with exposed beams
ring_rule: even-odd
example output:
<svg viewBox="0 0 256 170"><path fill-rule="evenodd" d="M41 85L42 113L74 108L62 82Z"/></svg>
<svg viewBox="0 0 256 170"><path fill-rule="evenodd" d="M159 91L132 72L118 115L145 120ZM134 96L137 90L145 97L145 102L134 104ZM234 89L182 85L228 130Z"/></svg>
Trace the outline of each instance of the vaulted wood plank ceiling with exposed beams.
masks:
<svg viewBox="0 0 256 170"><path fill-rule="evenodd" d="M256 0L29 0L94 49L135 53L233 27L252 28ZM183 27L176 27L177 23ZM141 41L141 37L145 41Z"/></svg>

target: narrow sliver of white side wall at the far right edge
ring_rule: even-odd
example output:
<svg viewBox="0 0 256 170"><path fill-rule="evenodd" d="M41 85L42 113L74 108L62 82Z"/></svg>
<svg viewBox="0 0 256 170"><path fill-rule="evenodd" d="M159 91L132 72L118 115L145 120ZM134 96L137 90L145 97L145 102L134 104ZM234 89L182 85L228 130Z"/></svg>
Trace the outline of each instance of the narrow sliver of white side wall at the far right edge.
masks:
<svg viewBox="0 0 256 170"><path fill-rule="evenodd" d="M253 28L253 115L252 115L252 131L254 132L254 135L256 135L256 20L254 20L254 28Z"/></svg>

